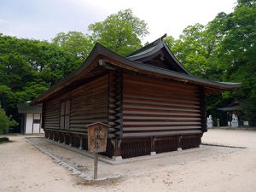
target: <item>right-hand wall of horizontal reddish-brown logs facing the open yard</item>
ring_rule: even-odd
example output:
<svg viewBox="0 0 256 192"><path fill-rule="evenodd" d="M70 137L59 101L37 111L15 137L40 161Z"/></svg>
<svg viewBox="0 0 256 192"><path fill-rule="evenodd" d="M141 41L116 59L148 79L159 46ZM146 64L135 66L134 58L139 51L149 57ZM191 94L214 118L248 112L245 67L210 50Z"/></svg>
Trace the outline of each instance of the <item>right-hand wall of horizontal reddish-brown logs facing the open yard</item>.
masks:
<svg viewBox="0 0 256 192"><path fill-rule="evenodd" d="M123 137L201 133L199 87L124 73Z"/></svg>

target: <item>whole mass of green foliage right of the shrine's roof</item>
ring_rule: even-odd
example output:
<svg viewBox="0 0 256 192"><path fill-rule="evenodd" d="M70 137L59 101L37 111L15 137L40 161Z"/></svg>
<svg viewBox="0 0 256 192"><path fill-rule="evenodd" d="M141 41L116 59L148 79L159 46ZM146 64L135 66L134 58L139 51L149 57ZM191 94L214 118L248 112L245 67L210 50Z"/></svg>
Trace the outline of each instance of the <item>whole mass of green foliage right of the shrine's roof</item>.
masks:
<svg viewBox="0 0 256 192"><path fill-rule="evenodd" d="M242 83L233 93L208 97L208 112L236 97L246 101L245 118L256 119L255 1L238 0L233 13L219 13L206 26L188 26L177 40L166 38L166 43L195 76Z"/></svg>

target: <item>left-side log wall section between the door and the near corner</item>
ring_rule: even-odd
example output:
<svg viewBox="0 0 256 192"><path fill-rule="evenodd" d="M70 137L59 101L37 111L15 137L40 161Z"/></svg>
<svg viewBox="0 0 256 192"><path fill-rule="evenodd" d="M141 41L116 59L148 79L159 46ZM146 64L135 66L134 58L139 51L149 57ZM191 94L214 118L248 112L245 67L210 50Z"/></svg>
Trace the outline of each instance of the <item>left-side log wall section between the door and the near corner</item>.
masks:
<svg viewBox="0 0 256 192"><path fill-rule="evenodd" d="M80 86L71 96L71 131L87 131L86 125L98 121L108 123L108 75Z"/></svg>

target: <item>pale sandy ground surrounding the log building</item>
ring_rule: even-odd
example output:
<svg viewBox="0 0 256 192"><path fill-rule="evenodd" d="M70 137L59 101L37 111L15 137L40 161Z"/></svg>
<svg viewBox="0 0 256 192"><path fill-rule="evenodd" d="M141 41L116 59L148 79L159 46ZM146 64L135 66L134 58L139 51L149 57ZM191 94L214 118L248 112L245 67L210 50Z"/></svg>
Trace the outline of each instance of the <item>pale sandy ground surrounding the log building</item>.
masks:
<svg viewBox="0 0 256 192"><path fill-rule="evenodd" d="M131 164L100 163L101 177L122 175L101 182L87 182L74 176L27 143L24 137L10 139L14 142L0 145L1 192L256 190L256 131L210 130L202 140L245 149L203 146ZM92 174L92 160L63 152L67 149L60 147L49 150L63 160L77 162Z"/></svg>

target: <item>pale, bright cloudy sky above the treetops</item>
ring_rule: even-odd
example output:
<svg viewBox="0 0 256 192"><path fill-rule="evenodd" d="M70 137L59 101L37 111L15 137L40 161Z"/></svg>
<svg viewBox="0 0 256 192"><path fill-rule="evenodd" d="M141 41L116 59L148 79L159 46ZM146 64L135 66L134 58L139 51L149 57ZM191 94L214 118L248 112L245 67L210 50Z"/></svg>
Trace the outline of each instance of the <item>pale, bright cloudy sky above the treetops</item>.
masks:
<svg viewBox="0 0 256 192"><path fill-rule="evenodd" d="M235 6L236 0L0 0L0 33L50 41L58 32L88 33L91 23L132 9L148 23L143 41L151 42L165 33L178 38L186 26L206 25Z"/></svg>

